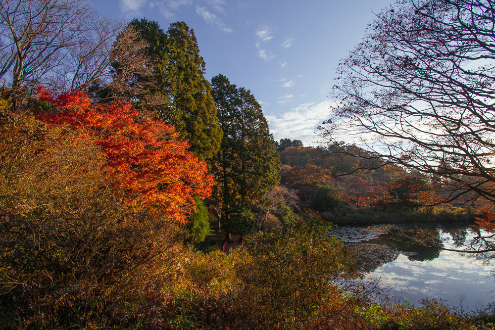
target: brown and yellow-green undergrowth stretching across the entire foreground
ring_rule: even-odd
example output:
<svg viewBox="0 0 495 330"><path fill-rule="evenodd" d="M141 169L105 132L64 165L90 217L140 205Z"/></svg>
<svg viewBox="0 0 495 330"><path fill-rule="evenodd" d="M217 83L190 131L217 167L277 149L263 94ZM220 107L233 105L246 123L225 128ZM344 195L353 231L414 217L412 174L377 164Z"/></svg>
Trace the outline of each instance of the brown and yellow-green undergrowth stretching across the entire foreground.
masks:
<svg viewBox="0 0 495 330"><path fill-rule="evenodd" d="M2 329L493 329L434 301L374 304L311 214L228 256L198 252L173 219L119 202L94 145L29 114L0 120Z"/></svg>

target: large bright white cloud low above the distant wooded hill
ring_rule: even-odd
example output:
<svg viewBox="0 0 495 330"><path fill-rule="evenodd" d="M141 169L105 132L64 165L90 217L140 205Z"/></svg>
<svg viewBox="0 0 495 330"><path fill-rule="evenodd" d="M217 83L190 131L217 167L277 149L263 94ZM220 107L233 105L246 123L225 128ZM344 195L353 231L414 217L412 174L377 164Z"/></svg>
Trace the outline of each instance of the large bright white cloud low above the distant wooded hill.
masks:
<svg viewBox="0 0 495 330"><path fill-rule="evenodd" d="M291 95L291 94L286 94ZM334 102L325 100L319 103L304 103L288 112L268 115L266 120L276 141L280 139L301 140L304 145L316 145L316 126L330 116Z"/></svg>

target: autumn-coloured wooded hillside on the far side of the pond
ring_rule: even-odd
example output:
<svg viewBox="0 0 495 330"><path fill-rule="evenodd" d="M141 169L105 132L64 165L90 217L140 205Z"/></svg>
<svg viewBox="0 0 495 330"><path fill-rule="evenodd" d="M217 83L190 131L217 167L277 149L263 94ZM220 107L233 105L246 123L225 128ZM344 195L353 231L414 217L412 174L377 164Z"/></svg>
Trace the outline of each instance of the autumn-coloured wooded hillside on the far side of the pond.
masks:
<svg viewBox="0 0 495 330"><path fill-rule="evenodd" d="M415 221L482 217L476 213L482 205L473 194L450 198L456 182L406 171L356 145L290 146L279 153L281 184L294 189L298 206L318 211L334 223L380 222L373 215L380 211L382 222L404 216Z"/></svg>

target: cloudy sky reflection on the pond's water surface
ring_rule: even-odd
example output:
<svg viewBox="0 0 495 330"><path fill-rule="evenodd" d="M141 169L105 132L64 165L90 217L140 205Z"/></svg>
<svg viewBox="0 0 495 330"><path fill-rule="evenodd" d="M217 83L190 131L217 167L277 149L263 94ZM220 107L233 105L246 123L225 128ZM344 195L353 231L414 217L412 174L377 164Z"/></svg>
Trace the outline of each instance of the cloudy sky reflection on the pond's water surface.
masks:
<svg viewBox="0 0 495 330"><path fill-rule="evenodd" d="M339 231L347 233L356 228L341 227ZM448 233L455 232L449 228L448 232L439 230L444 246L462 249L463 239L457 239L457 246ZM463 230L463 228L457 228ZM473 232L467 226L464 227L466 241L473 237ZM344 240L346 235L343 236ZM443 300L446 304L459 311L475 311L486 309L495 301L495 276L492 264L477 258L473 254L458 253L416 247L386 242L374 237L366 237L365 241L385 243L397 248L399 256L396 260L388 262L377 268L368 277L380 279L381 287L385 292L392 294L398 302L404 300L419 306L423 298ZM405 251L407 252L405 252ZM412 252L412 253L411 253ZM404 255L406 253L407 255ZM421 261L423 260L423 261ZM388 288L387 288L388 287Z"/></svg>

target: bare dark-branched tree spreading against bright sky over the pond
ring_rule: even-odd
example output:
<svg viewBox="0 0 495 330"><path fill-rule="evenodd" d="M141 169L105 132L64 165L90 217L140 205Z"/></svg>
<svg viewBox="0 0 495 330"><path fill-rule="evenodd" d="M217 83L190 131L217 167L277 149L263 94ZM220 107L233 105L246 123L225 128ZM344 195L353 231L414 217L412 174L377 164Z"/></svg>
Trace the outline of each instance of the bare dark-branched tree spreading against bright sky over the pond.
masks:
<svg viewBox="0 0 495 330"><path fill-rule="evenodd" d="M489 0L398 0L339 64L323 136L494 201L494 22Z"/></svg>

